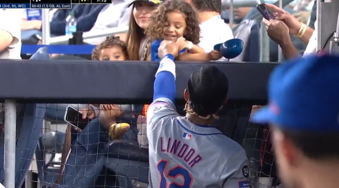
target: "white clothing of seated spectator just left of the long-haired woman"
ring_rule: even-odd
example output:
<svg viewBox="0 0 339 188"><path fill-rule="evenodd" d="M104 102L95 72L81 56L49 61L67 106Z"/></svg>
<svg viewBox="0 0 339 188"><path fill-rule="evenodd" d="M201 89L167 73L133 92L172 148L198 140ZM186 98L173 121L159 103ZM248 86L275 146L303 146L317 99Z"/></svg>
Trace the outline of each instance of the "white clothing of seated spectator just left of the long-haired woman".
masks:
<svg viewBox="0 0 339 188"><path fill-rule="evenodd" d="M115 0L112 4L105 6L96 18L94 26L89 32L100 32L106 29L116 27L128 27L132 13L132 7L129 7L131 0ZM97 45L105 37L84 40L85 43Z"/></svg>

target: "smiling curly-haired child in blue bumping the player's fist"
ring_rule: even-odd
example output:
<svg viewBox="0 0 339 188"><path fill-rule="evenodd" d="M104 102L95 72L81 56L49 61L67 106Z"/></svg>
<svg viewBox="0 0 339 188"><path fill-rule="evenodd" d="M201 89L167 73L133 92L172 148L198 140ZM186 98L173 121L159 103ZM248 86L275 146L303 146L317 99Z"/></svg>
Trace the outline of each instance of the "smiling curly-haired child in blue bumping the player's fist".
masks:
<svg viewBox="0 0 339 188"><path fill-rule="evenodd" d="M160 5L150 18L146 35L152 42L152 61L159 61L158 48L163 40L176 42L179 60L191 60L191 54L205 52L197 46L200 42L198 16L192 7L182 0L167 1Z"/></svg>

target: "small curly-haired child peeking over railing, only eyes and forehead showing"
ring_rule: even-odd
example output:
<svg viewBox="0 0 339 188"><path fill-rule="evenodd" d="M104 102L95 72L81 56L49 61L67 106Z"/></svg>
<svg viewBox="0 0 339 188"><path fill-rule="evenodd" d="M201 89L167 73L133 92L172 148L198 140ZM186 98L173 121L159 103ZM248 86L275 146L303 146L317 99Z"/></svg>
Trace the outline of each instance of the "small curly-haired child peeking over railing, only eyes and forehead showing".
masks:
<svg viewBox="0 0 339 188"><path fill-rule="evenodd" d="M92 60L125 61L127 59L126 43L113 36L106 37L92 52Z"/></svg>

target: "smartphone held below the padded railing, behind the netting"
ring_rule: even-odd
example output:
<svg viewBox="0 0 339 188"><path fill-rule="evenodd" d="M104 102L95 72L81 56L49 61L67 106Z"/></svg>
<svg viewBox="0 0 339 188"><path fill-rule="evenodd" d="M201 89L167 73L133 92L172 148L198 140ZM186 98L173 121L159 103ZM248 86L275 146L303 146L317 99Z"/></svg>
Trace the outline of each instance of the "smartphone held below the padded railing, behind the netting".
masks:
<svg viewBox="0 0 339 188"><path fill-rule="evenodd" d="M82 130L85 128L88 122L90 122L92 119L88 117L86 117L85 119L82 119L81 112L79 112L78 110L76 110L75 108L71 106L67 106L64 120L67 123Z"/></svg>

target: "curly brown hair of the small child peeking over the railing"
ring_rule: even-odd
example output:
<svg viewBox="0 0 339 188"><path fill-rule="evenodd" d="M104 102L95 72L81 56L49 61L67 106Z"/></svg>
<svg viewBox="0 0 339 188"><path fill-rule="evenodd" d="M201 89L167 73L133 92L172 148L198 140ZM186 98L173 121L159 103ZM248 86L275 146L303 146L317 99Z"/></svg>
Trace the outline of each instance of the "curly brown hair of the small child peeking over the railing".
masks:
<svg viewBox="0 0 339 188"><path fill-rule="evenodd" d="M100 51L105 48L111 48L114 46L119 46L122 48L123 52L125 53L126 58L128 58L127 53L127 45L124 41L121 41L119 38L114 36L106 37L104 41L102 41L99 45L96 45L92 52L92 60L99 60Z"/></svg>

